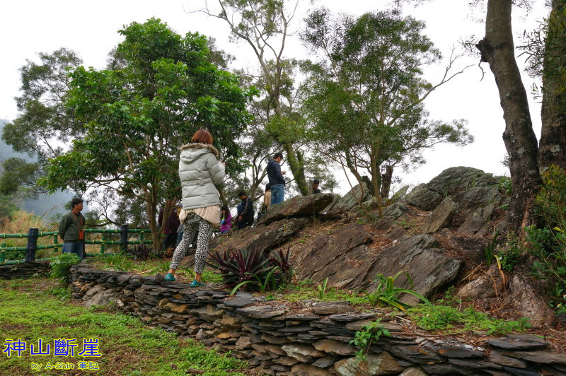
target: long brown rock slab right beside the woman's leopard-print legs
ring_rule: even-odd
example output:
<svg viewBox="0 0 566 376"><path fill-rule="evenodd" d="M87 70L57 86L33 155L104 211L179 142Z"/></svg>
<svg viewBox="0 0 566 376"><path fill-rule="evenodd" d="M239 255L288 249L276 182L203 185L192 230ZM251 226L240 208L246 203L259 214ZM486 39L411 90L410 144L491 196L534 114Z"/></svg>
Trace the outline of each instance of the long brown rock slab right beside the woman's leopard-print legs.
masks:
<svg viewBox="0 0 566 376"><path fill-rule="evenodd" d="M265 252L279 247L310 222L310 218L291 218L273 222L267 226L246 227L230 236L221 236L210 247L217 251L229 249L253 249Z"/></svg>

